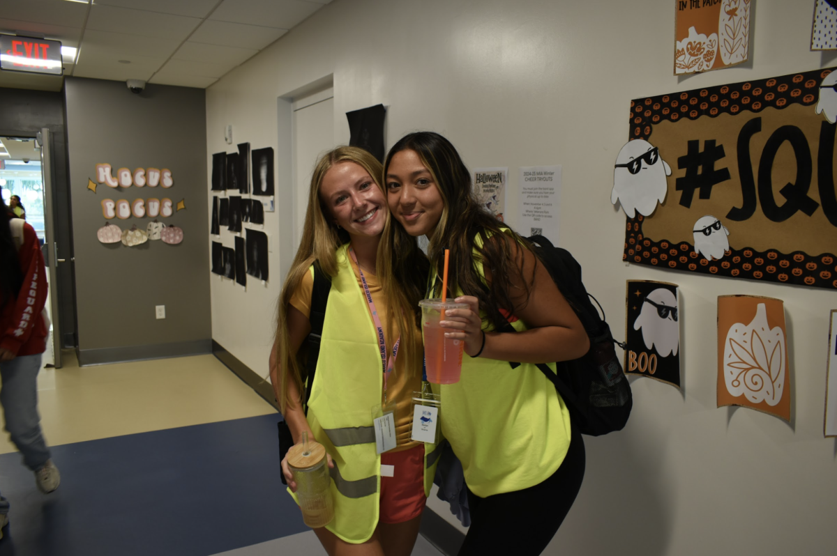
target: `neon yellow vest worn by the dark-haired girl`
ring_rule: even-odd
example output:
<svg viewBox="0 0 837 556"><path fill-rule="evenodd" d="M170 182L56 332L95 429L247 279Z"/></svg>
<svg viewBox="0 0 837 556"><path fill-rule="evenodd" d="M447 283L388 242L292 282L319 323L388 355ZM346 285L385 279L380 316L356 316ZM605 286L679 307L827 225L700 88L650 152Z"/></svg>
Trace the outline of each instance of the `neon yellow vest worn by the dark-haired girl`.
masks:
<svg viewBox="0 0 837 556"><path fill-rule="evenodd" d="M480 237L475 247L482 247ZM476 272L485 280L480 258ZM430 283L436 278L431 270ZM462 293L457 293L457 296ZM483 329L492 329L483 318ZM526 330L521 320L511 323ZM555 364L549 364L555 370ZM433 385L442 396L442 433L479 497L534 487L556 472L570 446L570 415L555 385L530 363L462 357L460 381Z"/></svg>

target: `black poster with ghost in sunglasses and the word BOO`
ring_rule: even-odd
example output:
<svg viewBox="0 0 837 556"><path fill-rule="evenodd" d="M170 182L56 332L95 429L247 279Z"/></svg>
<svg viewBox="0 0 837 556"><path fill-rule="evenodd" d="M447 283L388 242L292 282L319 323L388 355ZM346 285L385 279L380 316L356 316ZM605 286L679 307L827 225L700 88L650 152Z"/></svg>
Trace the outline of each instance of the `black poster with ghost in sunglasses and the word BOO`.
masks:
<svg viewBox="0 0 837 556"><path fill-rule="evenodd" d="M675 283L628 280L624 371L680 388L680 314Z"/></svg>

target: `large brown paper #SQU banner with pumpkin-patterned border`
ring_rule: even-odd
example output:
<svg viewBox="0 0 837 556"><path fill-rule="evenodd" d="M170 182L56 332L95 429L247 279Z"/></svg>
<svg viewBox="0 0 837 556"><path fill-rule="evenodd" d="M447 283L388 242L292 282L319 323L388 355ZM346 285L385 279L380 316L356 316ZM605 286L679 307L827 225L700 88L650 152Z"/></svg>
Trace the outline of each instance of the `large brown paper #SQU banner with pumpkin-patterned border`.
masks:
<svg viewBox="0 0 837 556"><path fill-rule="evenodd" d="M665 200L627 219L623 259L837 289L832 70L634 99L630 139L655 156L614 181L641 194L658 160L670 175Z"/></svg>

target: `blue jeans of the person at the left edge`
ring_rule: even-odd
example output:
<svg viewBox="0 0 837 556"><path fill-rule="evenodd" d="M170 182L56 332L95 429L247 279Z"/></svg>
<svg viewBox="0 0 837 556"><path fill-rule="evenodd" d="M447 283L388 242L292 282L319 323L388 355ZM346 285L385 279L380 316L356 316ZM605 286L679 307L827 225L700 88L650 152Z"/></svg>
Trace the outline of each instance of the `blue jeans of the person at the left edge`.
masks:
<svg viewBox="0 0 837 556"><path fill-rule="evenodd" d="M23 465L33 471L49 460L49 448L41 433L38 414L38 373L41 355L21 355L0 363L0 404L6 431L23 454ZM8 513L8 502L0 496L0 513Z"/></svg>

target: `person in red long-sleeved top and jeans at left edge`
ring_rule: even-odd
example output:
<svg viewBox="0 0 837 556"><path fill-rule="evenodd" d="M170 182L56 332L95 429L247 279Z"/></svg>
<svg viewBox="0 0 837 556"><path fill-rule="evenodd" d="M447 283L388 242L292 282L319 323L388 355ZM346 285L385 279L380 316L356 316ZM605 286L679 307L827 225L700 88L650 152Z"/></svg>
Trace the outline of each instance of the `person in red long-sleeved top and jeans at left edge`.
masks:
<svg viewBox="0 0 837 556"><path fill-rule="evenodd" d="M38 414L38 373L49 334L42 314L46 298L38 236L33 227L14 217L0 196L0 404L6 431L44 493L53 492L60 482ZM0 496L0 538L8 508L8 501Z"/></svg>

